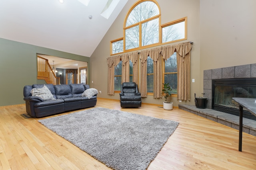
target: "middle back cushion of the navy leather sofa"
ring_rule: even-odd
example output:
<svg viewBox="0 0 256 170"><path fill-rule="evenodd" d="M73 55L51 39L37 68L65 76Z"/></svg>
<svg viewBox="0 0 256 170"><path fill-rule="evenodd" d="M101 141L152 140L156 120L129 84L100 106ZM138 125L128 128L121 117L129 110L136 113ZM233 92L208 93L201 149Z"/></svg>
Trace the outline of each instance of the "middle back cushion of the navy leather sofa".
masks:
<svg viewBox="0 0 256 170"><path fill-rule="evenodd" d="M54 85L54 89L55 89L57 99L72 98L70 85L58 84L58 85Z"/></svg>

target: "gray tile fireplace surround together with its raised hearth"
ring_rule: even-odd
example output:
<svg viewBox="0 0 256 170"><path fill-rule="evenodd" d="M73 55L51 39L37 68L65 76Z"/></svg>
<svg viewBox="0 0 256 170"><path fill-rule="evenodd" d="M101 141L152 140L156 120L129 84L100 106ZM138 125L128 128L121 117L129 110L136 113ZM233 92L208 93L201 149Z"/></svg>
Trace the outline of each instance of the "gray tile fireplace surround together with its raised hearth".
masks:
<svg viewBox="0 0 256 170"><path fill-rule="evenodd" d="M179 104L179 108L238 130L239 116L212 109L212 80L225 78L256 78L256 64L204 70L204 97L208 98L206 109L183 104ZM243 132L256 136L256 121L243 118Z"/></svg>

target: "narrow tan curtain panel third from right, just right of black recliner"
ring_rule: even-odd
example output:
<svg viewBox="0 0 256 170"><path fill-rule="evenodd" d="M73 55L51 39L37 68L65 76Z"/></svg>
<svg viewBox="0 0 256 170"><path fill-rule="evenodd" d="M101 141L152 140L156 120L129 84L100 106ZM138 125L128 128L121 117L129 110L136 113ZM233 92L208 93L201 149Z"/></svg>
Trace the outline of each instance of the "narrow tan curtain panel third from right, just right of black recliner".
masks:
<svg viewBox="0 0 256 170"><path fill-rule="evenodd" d="M140 53L141 70L140 70L140 94L142 98L147 97L147 59L148 50L142 51Z"/></svg>

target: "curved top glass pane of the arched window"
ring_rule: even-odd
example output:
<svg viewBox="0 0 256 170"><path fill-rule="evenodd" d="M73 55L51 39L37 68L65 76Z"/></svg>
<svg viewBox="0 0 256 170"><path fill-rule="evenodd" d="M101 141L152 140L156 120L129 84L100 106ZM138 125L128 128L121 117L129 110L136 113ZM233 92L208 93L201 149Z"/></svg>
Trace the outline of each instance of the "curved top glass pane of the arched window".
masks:
<svg viewBox="0 0 256 170"><path fill-rule="evenodd" d="M159 14L158 6L151 1L145 1L138 4L131 13L129 14L126 27L140 21L144 21L148 18L156 16Z"/></svg>

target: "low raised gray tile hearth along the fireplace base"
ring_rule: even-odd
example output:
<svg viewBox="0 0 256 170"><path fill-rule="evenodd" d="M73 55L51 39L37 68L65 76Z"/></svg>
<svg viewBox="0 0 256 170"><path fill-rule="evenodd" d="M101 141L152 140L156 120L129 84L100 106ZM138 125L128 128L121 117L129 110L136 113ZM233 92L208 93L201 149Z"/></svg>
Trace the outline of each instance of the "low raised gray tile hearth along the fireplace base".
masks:
<svg viewBox="0 0 256 170"><path fill-rule="evenodd" d="M239 116L216 111L213 109L199 109L193 105L179 104L179 109L194 113L206 119L218 122L222 125L239 129ZM243 118L243 132L256 136L256 121L252 119Z"/></svg>

